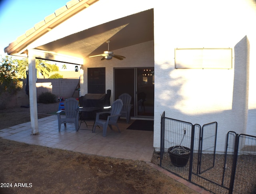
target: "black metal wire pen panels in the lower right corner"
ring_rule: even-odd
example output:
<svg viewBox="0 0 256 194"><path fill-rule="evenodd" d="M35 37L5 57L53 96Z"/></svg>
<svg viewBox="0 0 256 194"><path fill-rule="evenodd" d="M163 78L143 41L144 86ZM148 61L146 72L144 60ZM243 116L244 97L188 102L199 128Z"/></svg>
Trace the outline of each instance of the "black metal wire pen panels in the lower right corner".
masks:
<svg viewBox="0 0 256 194"><path fill-rule="evenodd" d="M224 164L223 176L230 176L229 193L256 193L256 136L228 132Z"/></svg>

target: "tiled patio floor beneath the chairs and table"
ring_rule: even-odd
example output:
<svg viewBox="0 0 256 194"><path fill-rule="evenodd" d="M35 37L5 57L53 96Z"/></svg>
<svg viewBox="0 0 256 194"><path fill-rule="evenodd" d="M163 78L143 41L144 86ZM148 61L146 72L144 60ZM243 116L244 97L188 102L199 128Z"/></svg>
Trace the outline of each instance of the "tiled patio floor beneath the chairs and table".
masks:
<svg viewBox="0 0 256 194"><path fill-rule="evenodd" d="M61 131L58 132L57 116L53 115L38 120L37 135L31 135L28 122L0 130L0 137L62 150L150 162L154 152L153 132L127 130L133 121L126 124L125 120L118 120L121 133L113 126L113 131L108 128L106 137L103 137L102 128L96 127L95 133L81 129L76 132L74 124L67 124L66 128L62 124ZM93 122L88 121L87 124L92 125ZM86 128L86 125L82 123L81 128Z"/></svg>

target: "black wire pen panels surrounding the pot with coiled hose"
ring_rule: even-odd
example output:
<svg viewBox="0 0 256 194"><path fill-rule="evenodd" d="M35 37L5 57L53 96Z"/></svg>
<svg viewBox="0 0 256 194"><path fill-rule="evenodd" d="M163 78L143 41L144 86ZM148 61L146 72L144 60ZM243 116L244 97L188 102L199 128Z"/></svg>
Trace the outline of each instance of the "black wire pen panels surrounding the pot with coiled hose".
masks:
<svg viewBox="0 0 256 194"><path fill-rule="evenodd" d="M221 157L217 154L218 160L216 161L216 137L217 122L201 127L199 124L193 125L189 122L166 118L163 112L160 166L211 192L229 193L231 175L227 173L227 169L231 169L230 172L232 172L232 166L226 168L224 157L226 155L224 154ZM185 160L182 154L174 158L170 153L170 149L178 146L190 149L190 158L185 166L176 164L180 160Z"/></svg>

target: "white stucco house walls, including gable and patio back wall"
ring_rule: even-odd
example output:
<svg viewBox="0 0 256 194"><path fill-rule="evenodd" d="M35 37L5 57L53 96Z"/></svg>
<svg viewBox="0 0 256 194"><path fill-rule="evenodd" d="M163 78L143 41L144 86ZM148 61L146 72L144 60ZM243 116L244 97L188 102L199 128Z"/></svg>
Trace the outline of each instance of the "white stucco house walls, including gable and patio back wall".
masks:
<svg viewBox="0 0 256 194"><path fill-rule="evenodd" d="M160 147L160 117L163 111L167 117L193 124L218 122L218 152L224 151L226 133L230 130L238 134L256 135L255 1L159 0L156 3L152 0L112 0L111 3L118 7L114 12L107 9L108 0L100 0L29 47L35 48L69 34L154 8L154 41L114 50L114 53L126 56L122 61L84 58L80 70L81 95L87 93L88 67L106 67L106 90L113 92L113 68L154 66L155 148ZM89 19L84 22L81 18ZM98 36L97 40L92 41L100 45L106 41L101 38ZM175 48L232 48L233 67L175 69Z"/></svg>

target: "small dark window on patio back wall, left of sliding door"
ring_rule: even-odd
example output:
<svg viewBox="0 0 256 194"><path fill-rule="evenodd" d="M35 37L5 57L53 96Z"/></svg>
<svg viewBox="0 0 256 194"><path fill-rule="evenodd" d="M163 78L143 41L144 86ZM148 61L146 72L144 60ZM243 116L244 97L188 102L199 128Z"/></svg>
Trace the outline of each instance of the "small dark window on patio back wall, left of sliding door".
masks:
<svg viewBox="0 0 256 194"><path fill-rule="evenodd" d="M88 68L88 93L106 93L106 70L102 68Z"/></svg>

